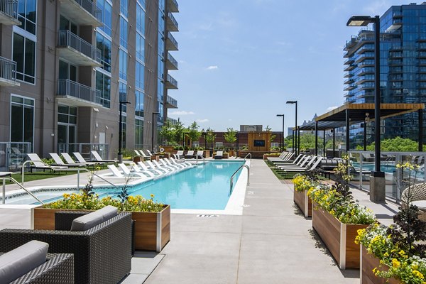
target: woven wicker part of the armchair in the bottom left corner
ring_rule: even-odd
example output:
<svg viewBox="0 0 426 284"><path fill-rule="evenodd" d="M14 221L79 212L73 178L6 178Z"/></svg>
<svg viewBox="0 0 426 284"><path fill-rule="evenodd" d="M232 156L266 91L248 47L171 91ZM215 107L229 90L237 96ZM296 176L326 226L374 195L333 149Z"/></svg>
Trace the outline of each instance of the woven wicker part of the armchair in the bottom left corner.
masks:
<svg viewBox="0 0 426 284"><path fill-rule="evenodd" d="M74 257L70 253L48 253L45 263L10 284L30 283L74 284Z"/></svg>

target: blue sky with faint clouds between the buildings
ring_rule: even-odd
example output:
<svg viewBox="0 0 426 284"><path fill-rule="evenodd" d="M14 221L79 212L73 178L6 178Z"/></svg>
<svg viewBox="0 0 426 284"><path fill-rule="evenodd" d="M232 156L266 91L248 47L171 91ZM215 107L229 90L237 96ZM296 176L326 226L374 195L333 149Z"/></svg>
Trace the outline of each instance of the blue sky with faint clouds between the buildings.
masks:
<svg viewBox="0 0 426 284"><path fill-rule="evenodd" d="M282 131L344 103L344 44L354 15L383 15L393 0L178 0L173 33L179 70L169 71L185 127L239 130L261 124ZM422 2L417 2L421 4Z"/></svg>

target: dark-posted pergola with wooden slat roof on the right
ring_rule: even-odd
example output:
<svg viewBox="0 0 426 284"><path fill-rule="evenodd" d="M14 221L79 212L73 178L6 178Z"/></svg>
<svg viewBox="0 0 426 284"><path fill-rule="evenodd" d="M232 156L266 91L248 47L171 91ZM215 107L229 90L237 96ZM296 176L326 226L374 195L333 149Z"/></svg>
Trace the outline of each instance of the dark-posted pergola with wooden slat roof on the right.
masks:
<svg viewBox="0 0 426 284"><path fill-rule="evenodd" d="M410 112L418 112L418 142L419 151L423 151L423 109L425 104L380 104L381 119L386 119L391 116L398 116L401 114L408 114ZM346 126L346 150L349 150L349 126L351 124L364 123L364 151L366 150L366 119L374 120L374 104L344 104L337 109L317 116L315 121L310 121L307 124L297 127L300 130L315 130L315 155L318 153L318 131L333 130L333 155L335 151L335 131L339 127ZM324 135L325 140L325 135ZM325 143L324 143L325 153Z"/></svg>

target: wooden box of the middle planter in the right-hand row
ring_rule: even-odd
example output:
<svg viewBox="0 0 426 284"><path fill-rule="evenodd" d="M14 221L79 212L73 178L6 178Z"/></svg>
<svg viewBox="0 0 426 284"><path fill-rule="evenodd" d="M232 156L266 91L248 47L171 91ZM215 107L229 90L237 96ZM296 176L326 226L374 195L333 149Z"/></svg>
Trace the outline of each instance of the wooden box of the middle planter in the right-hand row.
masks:
<svg viewBox="0 0 426 284"><path fill-rule="evenodd" d="M318 204L313 203L312 227L320 235L341 269L359 268L359 244L355 244L357 230L368 225L344 224Z"/></svg>

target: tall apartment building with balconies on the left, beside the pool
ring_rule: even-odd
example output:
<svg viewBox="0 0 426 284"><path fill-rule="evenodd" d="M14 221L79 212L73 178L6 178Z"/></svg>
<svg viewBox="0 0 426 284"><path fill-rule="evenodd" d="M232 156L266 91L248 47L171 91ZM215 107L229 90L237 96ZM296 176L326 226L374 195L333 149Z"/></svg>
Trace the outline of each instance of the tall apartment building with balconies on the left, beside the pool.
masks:
<svg viewBox="0 0 426 284"><path fill-rule="evenodd" d="M175 0L1 0L0 150L112 158L120 107L123 148L151 148L178 107L176 12Z"/></svg>

